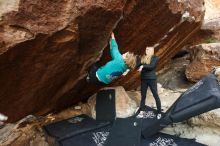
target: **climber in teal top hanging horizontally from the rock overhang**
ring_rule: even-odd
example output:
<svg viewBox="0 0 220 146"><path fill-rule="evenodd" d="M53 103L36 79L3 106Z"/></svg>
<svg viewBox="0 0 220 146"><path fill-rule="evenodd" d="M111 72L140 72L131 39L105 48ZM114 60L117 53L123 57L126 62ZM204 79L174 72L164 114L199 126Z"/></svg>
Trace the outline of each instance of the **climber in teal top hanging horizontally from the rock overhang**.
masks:
<svg viewBox="0 0 220 146"><path fill-rule="evenodd" d="M87 82L107 85L135 68L136 56L130 52L124 54L119 52L114 33L111 34L110 54L112 60L104 66L98 68L95 64L92 65L86 78Z"/></svg>

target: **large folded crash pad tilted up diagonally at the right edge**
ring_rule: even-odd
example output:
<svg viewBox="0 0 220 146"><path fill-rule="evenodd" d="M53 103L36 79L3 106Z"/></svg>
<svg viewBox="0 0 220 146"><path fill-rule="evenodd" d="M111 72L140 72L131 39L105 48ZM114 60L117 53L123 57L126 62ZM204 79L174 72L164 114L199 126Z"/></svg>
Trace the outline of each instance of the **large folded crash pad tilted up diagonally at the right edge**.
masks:
<svg viewBox="0 0 220 146"><path fill-rule="evenodd" d="M219 107L220 87L216 77L210 74L184 92L160 121L150 124L152 130L146 128L142 135L145 138L150 137L169 124L187 120Z"/></svg>

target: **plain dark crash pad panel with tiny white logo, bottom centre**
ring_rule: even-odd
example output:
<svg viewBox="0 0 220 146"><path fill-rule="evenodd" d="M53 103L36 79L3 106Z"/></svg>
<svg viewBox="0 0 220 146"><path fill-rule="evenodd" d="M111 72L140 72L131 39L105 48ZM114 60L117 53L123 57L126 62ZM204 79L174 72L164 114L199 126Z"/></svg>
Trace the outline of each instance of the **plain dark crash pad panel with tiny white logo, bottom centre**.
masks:
<svg viewBox="0 0 220 146"><path fill-rule="evenodd" d="M139 146L142 119L117 118L105 146Z"/></svg>

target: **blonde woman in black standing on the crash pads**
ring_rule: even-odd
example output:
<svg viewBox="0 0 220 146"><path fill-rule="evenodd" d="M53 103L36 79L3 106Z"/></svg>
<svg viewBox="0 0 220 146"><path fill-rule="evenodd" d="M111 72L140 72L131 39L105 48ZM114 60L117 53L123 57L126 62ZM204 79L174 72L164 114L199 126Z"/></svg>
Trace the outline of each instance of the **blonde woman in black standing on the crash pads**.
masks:
<svg viewBox="0 0 220 146"><path fill-rule="evenodd" d="M139 111L143 111L145 107L145 100L147 89L150 87L153 97L157 105L157 119L161 118L161 102L157 92L157 77L156 66L158 57L154 55L154 47L146 47L146 54L141 57L141 102Z"/></svg>

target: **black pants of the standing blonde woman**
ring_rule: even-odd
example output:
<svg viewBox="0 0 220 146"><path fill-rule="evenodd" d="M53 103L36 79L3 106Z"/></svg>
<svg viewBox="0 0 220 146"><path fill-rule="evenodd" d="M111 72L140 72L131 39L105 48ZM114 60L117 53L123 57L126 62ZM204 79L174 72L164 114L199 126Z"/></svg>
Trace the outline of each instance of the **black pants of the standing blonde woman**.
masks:
<svg viewBox="0 0 220 146"><path fill-rule="evenodd" d="M161 102L160 98L157 93L157 81L156 79L141 79L141 103L140 103L140 108L143 109L145 106L145 99L146 99L146 94L147 94L147 88L148 86L151 89L151 92L154 96L154 99L156 101L157 105L157 112L161 112Z"/></svg>

